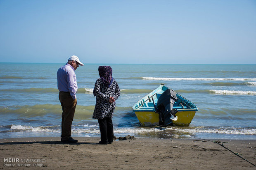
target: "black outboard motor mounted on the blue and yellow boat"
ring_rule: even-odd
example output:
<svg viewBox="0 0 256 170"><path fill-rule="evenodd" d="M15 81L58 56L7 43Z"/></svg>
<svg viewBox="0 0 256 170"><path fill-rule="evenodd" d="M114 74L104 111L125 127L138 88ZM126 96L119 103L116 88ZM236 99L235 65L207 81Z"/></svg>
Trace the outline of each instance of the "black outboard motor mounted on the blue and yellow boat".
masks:
<svg viewBox="0 0 256 170"><path fill-rule="evenodd" d="M172 123L172 120L178 119L178 117L175 116L178 110L173 108L173 104L177 99L176 92L172 89L166 90L158 98L156 109L159 112L160 126L168 126Z"/></svg>

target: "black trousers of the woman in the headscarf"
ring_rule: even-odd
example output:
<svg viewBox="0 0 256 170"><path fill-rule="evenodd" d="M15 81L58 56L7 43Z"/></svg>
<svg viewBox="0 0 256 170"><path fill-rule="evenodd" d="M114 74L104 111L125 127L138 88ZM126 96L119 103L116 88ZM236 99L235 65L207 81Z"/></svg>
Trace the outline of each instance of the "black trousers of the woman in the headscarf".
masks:
<svg viewBox="0 0 256 170"><path fill-rule="evenodd" d="M114 131L112 119L105 117L98 119L100 125L100 140L102 142L113 142Z"/></svg>

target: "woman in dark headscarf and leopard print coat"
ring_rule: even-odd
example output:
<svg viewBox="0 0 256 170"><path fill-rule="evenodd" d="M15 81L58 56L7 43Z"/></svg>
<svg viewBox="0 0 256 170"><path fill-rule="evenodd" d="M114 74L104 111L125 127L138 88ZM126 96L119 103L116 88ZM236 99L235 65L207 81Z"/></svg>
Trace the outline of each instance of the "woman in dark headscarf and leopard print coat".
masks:
<svg viewBox="0 0 256 170"><path fill-rule="evenodd" d="M116 108L116 99L120 96L119 86L112 77L110 66L99 66L100 78L96 80L93 95L96 96L93 119L98 119L100 125L99 144L107 145L113 142L113 114Z"/></svg>

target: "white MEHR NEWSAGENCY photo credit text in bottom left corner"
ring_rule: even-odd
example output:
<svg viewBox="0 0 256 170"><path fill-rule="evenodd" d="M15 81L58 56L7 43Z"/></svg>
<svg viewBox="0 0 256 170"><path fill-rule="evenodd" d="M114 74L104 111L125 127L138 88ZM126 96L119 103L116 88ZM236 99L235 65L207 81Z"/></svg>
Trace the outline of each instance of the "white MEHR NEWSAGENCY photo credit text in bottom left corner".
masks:
<svg viewBox="0 0 256 170"><path fill-rule="evenodd" d="M4 158L4 167L47 167L46 159Z"/></svg>

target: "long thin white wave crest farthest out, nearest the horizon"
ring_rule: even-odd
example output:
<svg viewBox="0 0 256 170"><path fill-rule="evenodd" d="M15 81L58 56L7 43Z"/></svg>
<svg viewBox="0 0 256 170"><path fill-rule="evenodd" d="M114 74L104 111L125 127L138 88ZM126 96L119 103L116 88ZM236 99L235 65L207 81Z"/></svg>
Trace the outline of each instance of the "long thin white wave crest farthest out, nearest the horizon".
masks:
<svg viewBox="0 0 256 170"><path fill-rule="evenodd" d="M225 81L225 80L235 80L235 81L255 81L256 78L165 78L165 77L142 77L145 80L169 80L169 81L180 81L180 80L203 80L203 81Z"/></svg>

